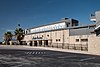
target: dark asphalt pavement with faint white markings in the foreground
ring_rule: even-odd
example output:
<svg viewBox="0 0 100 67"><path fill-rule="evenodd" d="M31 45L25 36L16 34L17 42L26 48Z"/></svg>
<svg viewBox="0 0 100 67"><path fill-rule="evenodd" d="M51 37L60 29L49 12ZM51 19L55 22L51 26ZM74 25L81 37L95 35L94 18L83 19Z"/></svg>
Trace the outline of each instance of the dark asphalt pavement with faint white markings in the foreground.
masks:
<svg viewBox="0 0 100 67"><path fill-rule="evenodd" d="M100 67L100 57L43 49L0 47L0 67Z"/></svg>

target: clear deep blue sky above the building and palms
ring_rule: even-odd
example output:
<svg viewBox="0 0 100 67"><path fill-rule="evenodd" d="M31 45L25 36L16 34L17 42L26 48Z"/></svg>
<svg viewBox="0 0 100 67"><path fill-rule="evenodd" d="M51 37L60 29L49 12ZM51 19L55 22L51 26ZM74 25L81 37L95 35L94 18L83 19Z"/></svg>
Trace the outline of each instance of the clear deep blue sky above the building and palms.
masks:
<svg viewBox="0 0 100 67"><path fill-rule="evenodd" d="M83 25L92 24L90 14L98 10L100 0L0 0L0 37L17 24L25 29L64 17L77 19Z"/></svg>

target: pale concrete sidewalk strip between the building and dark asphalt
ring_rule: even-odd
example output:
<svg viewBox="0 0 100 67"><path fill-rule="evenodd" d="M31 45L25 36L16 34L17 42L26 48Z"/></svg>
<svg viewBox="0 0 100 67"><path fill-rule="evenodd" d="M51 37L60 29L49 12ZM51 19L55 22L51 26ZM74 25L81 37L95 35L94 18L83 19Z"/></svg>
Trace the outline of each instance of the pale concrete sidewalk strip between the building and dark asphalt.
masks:
<svg viewBox="0 0 100 67"><path fill-rule="evenodd" d="M88 51L81 51L81 50L70 50L70 49L62 49L62 48L53 48L53 47L35 47L35 46L25 46L25 45L0 45L3 48L10 48L10 49L24 49L24 50L52 50L52 51L60 51L60 52L70 52L70 53L80 53L80 54L91 54ZM98 55L98 54L97 54Z"/></svg>

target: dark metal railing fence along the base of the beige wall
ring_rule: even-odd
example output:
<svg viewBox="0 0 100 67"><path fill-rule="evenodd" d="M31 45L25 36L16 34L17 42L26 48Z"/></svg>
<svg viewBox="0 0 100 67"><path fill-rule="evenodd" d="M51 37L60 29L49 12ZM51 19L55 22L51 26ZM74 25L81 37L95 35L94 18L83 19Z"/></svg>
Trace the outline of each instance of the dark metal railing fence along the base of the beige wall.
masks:
<svg viewBox="0 0 100 67"><path fill-rule="evenodd" d="M88 44L48 43L48 45L42 45L42 46L69 49L69 50L88 51Z"/></svg>

